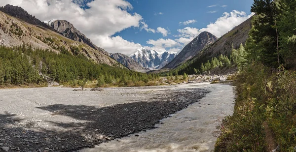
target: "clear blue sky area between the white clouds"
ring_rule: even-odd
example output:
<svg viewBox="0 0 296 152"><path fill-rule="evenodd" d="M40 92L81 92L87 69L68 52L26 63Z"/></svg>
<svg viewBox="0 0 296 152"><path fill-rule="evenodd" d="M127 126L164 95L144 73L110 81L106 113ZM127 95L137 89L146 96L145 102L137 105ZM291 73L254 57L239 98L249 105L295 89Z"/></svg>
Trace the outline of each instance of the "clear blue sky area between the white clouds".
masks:
<svg viewBox="0 0 296 152"><path fill-rule="evenodd" d="M251 14L250 9L253 0L128 0L133 9L130 12L137 12L143 18L149 28L156 29L163 27L169 29L171 34L165 38L174 39L173 35L178 34L178 29L185 27L205 28L208 24L214 23L224 12L232 10L244 11ZM217 5L213 7L208 7ZM227 5L227 6L225 6ZM225 6L225 7L221 7ZM216 12L217 11L217 12ZM161 14L159 14L161 12ZM189 25L179 24L188 20L196 22ZM148 45L149 39L163 38L161 33L139 31L137 28L129 28L117 32L128 41Z"/></svg>

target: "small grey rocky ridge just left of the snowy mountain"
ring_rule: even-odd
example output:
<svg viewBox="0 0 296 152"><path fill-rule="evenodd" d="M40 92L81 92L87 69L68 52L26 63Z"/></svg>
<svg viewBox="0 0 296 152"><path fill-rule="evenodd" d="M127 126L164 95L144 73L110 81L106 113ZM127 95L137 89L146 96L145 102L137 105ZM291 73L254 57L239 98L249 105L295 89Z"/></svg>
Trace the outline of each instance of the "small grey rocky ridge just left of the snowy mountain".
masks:
<svg viewBox="0 0 296 152"><path fill-rule="evenodd" d="M110 57L118 61L119 63L123 64L130 70L139 71L139 72L146 72L149 70L148 68L144 68L141 64L139 64L138 62L134 61L132 58L124 54L114 53L114 54L111 54Z"/></svg>

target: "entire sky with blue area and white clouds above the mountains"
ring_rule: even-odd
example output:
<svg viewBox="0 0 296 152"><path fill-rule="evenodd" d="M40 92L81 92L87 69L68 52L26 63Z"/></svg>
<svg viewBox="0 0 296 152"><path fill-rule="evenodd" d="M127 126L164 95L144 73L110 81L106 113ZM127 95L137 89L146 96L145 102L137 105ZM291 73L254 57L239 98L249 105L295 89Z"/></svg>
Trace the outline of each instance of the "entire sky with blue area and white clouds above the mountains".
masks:
<svg viewBox="0 0 296 152"><path fill-rule="evenodd" d="M253 0L0 0L41 21L67 20L110 53L179 52L200 32L217 37L253 15Z"/></svg>

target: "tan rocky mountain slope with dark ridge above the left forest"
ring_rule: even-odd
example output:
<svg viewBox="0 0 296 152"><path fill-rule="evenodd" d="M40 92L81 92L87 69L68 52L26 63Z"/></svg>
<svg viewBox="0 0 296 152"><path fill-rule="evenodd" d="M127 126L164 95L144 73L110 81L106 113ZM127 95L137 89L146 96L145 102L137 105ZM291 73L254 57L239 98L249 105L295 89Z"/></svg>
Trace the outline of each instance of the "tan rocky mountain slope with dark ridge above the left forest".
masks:
<svg viewBox="0 0 296 152"><path fill-rule="evenodd" d="M18 6L6 5L0 10L0 44L4 46L27 45L32 48L49 49L56 53L69 52L111 66L123 67L102 51L89 45L69 39L39 21ZM13 17L15 16L15 17Z"/></svg>

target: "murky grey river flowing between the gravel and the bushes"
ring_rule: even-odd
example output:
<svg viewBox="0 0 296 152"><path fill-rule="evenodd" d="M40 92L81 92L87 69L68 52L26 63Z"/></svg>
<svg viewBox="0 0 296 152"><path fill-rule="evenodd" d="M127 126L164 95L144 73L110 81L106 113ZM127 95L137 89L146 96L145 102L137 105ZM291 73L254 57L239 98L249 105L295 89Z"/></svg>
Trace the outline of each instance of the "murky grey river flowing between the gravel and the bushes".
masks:
<svg viewBox="0 0 296 152"><path fill-rule="evenodd" d="M211 152L217 138L217 120L231 115L234 94L229 85L187 85L184 88L207 88L211 92L200 102L163 119L157 128L103 143L80 152Z"/></svg>

